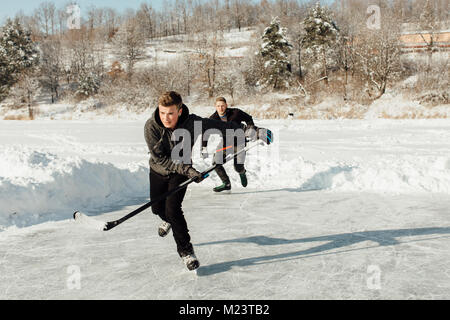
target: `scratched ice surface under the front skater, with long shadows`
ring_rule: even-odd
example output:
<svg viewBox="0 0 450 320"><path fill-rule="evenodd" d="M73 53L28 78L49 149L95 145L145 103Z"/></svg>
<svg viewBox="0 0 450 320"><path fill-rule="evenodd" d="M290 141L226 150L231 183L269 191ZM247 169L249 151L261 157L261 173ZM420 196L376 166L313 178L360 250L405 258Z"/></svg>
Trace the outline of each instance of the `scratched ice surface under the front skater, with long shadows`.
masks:
<svg viewBox="0 0 450 320"><path fill-rule="evenodd" d="M148 212L107 232L47 222L0 233L0 298L448 299L449 205L436 195L196 188L183 207L197 273Z"/></svg>

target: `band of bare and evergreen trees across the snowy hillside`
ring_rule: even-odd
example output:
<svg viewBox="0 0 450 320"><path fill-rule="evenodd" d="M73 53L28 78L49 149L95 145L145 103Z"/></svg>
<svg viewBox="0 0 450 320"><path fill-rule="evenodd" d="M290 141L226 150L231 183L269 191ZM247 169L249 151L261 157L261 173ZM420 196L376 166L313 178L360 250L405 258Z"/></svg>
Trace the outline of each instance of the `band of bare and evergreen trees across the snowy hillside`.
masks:
<svg viewBox="0 0 450 320"><path fill-rule="evenodd" d="M145 108L167 88L233 100L280 90L312 101L319 91L373 100L390 82L418 72L401 61L402 25L433 35L449 18L444 0L175 0L161 10L150 2L123 13L83 9L80 28L70 29L69 4L43 2L33 14L19 12L1 28L0 100L12 95L30 113L38 93L47 93L52 102L97 95L105 104ZM367 10L373 4L380 10L377 28L368 27L377 18ZM228 32L248 28L257 35L246 43L249 54L220 55ZM161 39L183 53L167 65L136 68ZM424 66L428 76L432 39ZM111 52L117 60L107 65Z"/></svg>

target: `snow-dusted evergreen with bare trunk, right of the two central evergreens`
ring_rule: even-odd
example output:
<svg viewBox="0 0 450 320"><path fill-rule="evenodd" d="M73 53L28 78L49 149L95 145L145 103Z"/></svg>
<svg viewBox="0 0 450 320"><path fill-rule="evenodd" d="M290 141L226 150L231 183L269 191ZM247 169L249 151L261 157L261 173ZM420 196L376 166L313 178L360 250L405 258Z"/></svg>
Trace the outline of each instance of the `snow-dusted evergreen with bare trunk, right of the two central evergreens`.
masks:
<svg viewBox="0 0 450 320"><path fill-rule="evenodd" d="M303 24L306 32L303 47L313 50L318 59L322 60L323 77L325 83L328 83L327 50L336 44L339 29L333 21L331 12L319 2L310 10Z"/></svg>

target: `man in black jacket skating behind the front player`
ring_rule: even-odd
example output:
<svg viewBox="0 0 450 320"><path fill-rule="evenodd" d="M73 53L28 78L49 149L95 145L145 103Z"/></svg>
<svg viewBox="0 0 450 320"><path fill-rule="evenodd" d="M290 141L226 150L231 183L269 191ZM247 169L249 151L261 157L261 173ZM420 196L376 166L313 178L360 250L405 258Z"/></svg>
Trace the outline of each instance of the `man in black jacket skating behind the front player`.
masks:
<svg viewBox="0 0 450 320"><path fill-rule="evenodd" d="M216 99L216 102L214 104L216 108L216 112L214 112L209 118L213 120L221 120L223 122L234 122L236 124L241 124L242 122L245 122L247 127L253 127L255 124L253 123L253 118L249 114L245 113L244 111L237 109L237 108L228 108L227 100L224 97L218 97ZM203 138L202 143L202 152L201 155L203 159L208 157L208 150L207 150L207 144L208 144L208 136L205 135ZM217 146L217 150L221 150L214 154L214 162L219 163L219 165L216 167L215 171L219 178L222 180L222 185L215 187L213 190L215 192L222 192L226 190L231 190L231 182L230 178L227 175L227 172L225 171L225 168L220 164L222 162L219 162L226 156L225 150L226 148L223 141L219 143ZM234 152L237 152L238 148L235 145L234 146ZM220 159L222 158L222 159ZM223 161L223 160L222 160ZM244 167L244 161L245 161L245 153L242 153L239 157L234 158L234 170L239 173L239 177L241 178L241 184L245 188L247 186L247 175L245 167Z"/></svg>

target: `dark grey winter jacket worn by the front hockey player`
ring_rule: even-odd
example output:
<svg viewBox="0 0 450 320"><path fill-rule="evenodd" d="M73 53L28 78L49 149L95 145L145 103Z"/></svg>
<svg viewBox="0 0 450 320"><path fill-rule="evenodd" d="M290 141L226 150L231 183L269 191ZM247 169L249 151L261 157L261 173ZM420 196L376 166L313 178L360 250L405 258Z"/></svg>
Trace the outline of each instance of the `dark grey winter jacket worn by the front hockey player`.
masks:
<svg viewBox="0 0 450 320"><path fill-rule="evenodd" d="M235 122L223 122L212 120L208 118L202 118L195 114L189 114L189 109L186 105L182 106L182 114L178 118L177 127L175 130L164 127L159 117L159 108L156 108L153 116L147 120L144 127L145 141L147 142L148 149L150 151L150 168L159 173L160 175L167 176L171 173L179 173L187 176L189 168L192 166L191 159L188 161L173 160L172 151L177 146L179 141L172 139L174 132L177 129L185 129L183 132L187 134L186 137L181 139L188 139L184 141L188 150L183 149L183 152L192 152L192 147L195 144L199 135L203 135L208 129L218 129L225 137L227 129L245 129L244 125L237 124ZM195 123L197 125L195 126ZM200 129L201 124L201 130ZM197 128L197 130L194 130ZM178 131L180 133L181 131ZM242 131L243 133L243 131ZM180 140L181 141L181 140ZM180 147L180 145L178 145Z"/></svg>

